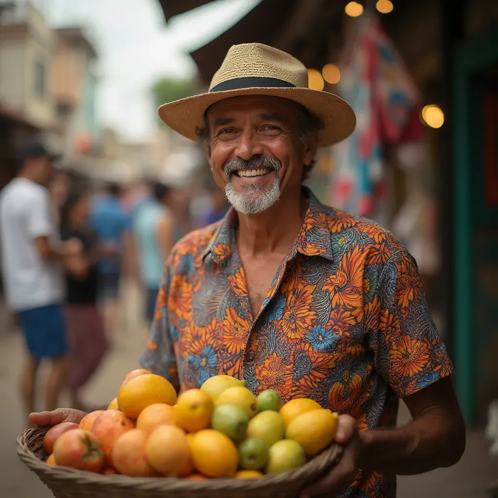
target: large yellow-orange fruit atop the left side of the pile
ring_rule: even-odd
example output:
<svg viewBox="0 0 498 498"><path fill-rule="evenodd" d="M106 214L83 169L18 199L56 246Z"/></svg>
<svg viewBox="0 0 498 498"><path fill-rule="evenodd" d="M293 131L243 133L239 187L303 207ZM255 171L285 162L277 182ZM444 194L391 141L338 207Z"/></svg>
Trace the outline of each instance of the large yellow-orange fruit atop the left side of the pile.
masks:
<svg viewBox="0 0 498 498"><path fill-rule="evenodd" d="M130 418L137 418L140 412L154 403L174 404L176 391L171 383L160 375L152 373L138 375L128 380L118 392L120 410Z"/></svg>

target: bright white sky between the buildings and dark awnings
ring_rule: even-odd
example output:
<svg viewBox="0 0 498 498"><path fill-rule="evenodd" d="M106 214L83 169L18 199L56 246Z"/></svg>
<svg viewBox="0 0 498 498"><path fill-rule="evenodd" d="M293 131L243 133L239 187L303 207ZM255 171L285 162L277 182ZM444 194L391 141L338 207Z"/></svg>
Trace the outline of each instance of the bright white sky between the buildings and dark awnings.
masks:
<svg viewBox="0 0 498 498"><path fill-rule="evenodd" d="M189 52L226 31L261 0L215 0L173 17L157 0L31 0L54 27L89 29L99 52L98 115L125 140L147 140L155 126L150 96L161 77L190 78Z"/></svg>

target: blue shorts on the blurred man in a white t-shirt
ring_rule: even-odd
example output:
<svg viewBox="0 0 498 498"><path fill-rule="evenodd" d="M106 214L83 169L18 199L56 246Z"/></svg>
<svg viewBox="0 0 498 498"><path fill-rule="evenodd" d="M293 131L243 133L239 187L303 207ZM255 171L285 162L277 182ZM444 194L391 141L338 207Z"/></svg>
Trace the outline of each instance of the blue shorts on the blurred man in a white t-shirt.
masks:
<svg viewBox="0 0 498 498"><path fill-rule="evenodd" d="M17 313L19 325L31 356L59 358L67 351L66 330L60 304L51 304Z"/></svg>

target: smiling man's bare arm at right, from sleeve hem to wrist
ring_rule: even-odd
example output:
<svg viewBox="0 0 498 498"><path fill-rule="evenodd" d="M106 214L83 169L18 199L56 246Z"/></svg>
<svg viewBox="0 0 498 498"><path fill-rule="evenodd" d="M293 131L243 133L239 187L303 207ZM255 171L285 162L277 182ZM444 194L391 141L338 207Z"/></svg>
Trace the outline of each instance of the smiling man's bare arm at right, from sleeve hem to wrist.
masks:
<svg viewBox="0 0 498 498"><path fill-rule="evenodd" d="M465 450L465 424L449 377L403 399L413 420L397 429L360 433L359 467L415 475L456 464Z"/></svg>

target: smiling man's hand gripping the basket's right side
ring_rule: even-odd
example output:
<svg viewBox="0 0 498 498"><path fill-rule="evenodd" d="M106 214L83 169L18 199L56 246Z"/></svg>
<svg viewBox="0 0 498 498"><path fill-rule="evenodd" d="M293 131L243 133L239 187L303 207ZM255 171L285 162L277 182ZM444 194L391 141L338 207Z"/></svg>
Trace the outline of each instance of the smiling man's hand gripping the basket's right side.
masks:
<svg viewBox="0 0 498 498"><path fill-rule="evenodd" d="M321 481L306 488L301 498L334 496L355 480L362 449L356 420L349 415L340 415L334 439L344 447L339 463Z"/></svg>

